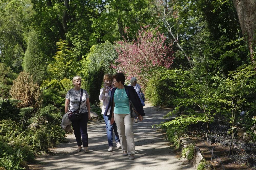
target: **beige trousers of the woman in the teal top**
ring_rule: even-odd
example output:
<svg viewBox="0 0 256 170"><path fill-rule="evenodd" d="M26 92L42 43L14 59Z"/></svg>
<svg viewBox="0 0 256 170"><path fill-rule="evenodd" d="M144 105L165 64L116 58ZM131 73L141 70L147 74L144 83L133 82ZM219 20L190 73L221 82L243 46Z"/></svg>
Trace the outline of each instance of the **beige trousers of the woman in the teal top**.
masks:
<svg viewBox="0 0 256 170"><path fill-rule="evenodd" d="M135 154L134 135L132 131L133 119L130 114L114 114L117 133L123 152L128 155Z"/></svg>

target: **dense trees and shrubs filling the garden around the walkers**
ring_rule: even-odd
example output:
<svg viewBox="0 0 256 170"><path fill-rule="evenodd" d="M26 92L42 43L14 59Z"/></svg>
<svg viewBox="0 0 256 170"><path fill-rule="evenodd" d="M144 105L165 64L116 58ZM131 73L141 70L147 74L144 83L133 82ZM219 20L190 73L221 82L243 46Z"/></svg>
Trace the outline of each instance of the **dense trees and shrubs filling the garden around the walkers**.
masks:
<svg viewBox="0 0 256 170"><path fill-rule="evenodd" d="M191 124L210 134L216 117L255 142L255 8L250 0L0 0L0 167L22 168L65 139L59 124L75 75L99 115L104 73L124 72L127 84L137 77L149 102L178 115L161 124L171 142Z"/></svg>

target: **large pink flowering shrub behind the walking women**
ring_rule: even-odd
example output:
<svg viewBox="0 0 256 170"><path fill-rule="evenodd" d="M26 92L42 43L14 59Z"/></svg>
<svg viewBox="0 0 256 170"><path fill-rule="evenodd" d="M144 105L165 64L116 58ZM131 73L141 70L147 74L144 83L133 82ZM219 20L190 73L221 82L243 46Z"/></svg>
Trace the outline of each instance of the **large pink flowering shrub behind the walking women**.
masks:
<svg viewBox="0 0 256 170"><path fill-rule="evenodd" d="M151 77L151 71L159 66L169 68L173 63L173 51L171 45L166 46L166 37L155 30L149 30L141 27L136 37L132 40L124 38L123 41L117 42L116 51L118 58L114 68L126 74L127 78L136 77L138 83L145 89L148 80ZM125 33L131 34L125 28Z"/></svg>

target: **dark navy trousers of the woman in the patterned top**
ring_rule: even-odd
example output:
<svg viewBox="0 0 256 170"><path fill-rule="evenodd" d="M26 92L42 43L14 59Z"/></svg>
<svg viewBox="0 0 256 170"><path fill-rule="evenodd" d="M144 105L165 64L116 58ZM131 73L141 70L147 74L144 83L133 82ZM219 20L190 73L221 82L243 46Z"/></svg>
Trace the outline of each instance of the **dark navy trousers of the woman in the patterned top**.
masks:
<svg viewBox="0 0 256 170"><path fill-rule="evenodd" d="M83 141L83 147L88 146L88 134L87 134L87 121L88 121L88 112L81 114L81 119L72 121L72 127L74 130L74 134L77 141L77 146L82 145ZM82 135L82 140L81 140Z"/></svg>

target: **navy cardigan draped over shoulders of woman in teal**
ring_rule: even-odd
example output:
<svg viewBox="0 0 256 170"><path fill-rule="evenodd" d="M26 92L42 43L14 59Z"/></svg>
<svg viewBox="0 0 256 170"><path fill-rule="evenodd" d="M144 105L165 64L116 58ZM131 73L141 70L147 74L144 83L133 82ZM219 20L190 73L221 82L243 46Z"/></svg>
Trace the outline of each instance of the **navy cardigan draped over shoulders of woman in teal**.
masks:
<svg viewBox="0 0 256 170"><path fill-rule="evenodd" d="M136 92L136 90L133 88L133 86L126 86L124 85L124 88L125 88L125 92L129 98L129 100L132 101L135 109L137 110L137 112L142 115L142 116L145 116L145 113L144 113L144 110L142 108L142 105L141 105L141 100ZM107 115L107 112L110 108L110 115L109 115L109 120L111 119L112 117L112 112L113 112L113 99L114 99L114 93L115 93L115 90L117 88L113 88L112 91L111 91L111 97L109 99L109 103L108 103L108 106L106 107L106 110L105 110L105 113L104 115L106 116Z"/></svg>

